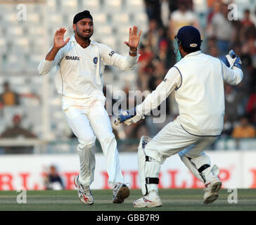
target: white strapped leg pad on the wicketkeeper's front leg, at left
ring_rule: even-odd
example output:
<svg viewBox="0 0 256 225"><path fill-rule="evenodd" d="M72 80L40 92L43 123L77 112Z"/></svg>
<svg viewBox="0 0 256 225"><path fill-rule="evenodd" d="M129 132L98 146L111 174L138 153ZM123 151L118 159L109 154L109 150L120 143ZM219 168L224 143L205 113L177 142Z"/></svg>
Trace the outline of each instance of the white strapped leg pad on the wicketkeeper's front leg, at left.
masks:
<svg viewBox="0 0 256 225"><path fill-rule="evenodd" d="M149 141L151 141L151 138L148 136L141 136L138 147L139 179L141 181L141 191L143 195L146 195L149 191L158 192L158 184L152 183L152 179L158 179L160 163L150 157L147 157L148 161L146 161L144 148Z"/></svg>

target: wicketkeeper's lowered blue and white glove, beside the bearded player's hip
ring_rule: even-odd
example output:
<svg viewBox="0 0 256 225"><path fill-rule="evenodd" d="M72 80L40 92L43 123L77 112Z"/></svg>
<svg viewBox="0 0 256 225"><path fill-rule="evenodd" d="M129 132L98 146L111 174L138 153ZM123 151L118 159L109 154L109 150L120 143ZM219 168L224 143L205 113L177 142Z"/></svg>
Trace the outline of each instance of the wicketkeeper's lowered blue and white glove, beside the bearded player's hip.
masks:
<svg viewBox="0 0 256 225"><path fill-rule="evenodd" d="M136 108L133 108L132 110L120 110L119 112L119 116L115 120L115 125L124 123L129 126L130 124L145 118L143 115L136 113Z"/></svg>

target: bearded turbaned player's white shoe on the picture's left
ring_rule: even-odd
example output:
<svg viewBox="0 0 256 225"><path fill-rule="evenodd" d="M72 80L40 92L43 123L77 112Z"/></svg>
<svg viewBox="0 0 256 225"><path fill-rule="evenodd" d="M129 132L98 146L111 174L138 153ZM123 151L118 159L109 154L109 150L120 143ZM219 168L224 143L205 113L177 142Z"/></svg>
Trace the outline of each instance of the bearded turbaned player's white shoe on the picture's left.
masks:
<svg viewBox="0 0 256 225"><path fill-rule="evenodd" d="M79 181L79 175L75 176L74 184L77 187L78 197L82 203L92 205L94 204L94 196L91 193L89 186L84 186Z"/></svg>

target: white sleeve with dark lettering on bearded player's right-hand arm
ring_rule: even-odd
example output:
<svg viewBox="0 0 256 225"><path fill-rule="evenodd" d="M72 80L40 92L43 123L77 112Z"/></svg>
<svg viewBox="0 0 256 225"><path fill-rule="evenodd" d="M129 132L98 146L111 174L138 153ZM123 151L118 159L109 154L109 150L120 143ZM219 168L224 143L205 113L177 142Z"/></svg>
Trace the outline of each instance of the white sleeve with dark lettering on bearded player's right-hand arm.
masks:
<svg viewBox="0 0 256 225"><path fill-rule="evenodd" d="M120 70L133 70L139 59L138 53L137 56L121 56L105 44L98 44L98 49L104 65L114 65Z"/></svg>

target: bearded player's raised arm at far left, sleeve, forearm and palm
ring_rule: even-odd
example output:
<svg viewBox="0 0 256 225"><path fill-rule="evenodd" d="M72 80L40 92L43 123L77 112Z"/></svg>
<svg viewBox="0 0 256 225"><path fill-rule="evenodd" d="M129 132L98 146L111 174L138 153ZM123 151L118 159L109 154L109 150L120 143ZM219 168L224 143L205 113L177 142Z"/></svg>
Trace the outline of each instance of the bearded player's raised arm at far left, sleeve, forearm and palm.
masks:
<svg viewBox="0 0 256 225"><path fill-rule="evenodd" d="M60 49L62 49L63 46L65 46L70 40L70 38L68 38L64 41L63 37L65 32L65 28L61 27L59 30L56 30L51 50L46 55L44 60L41 60L39 63L38 72L40 75L48 74L51 69L60 62L61 58L63 58L63 51L60 51Z"/></svg>

